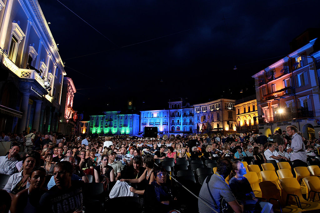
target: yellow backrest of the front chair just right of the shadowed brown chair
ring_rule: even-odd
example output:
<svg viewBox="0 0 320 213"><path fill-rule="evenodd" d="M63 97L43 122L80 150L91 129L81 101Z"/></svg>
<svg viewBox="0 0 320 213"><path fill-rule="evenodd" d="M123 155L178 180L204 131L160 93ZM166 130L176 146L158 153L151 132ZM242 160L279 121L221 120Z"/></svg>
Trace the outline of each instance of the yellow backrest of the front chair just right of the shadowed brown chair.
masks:
<svg viewBox="0 0 320 213"><path fill-rule="evenodd" d="M285 194L295 194L299 197L300 202L305 201L302 197L301 186L295 178L283 178L280 179L279 185ZM286 195L284 196L286 197Z"/></svg>

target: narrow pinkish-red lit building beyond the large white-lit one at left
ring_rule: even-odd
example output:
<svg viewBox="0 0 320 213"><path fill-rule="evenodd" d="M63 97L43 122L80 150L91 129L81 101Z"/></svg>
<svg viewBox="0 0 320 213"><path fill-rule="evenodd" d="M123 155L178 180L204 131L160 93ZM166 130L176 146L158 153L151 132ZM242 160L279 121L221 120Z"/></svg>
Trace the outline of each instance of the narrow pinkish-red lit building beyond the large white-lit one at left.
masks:
<svg viewBox="0 0 320 213"><path fill-rule="evenodd" d="M61 93L61 117L58 123L58 132L67 135L75 134L76 111L73 110L73 97L76 93L75 85L71 78L63 78Z"/></svg>

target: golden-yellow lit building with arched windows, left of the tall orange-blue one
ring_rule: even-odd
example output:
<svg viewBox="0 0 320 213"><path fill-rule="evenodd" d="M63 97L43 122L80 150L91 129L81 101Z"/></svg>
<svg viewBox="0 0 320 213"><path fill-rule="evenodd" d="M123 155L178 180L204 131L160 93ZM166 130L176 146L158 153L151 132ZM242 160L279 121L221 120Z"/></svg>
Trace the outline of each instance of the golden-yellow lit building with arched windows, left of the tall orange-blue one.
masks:
<svg viewBox="0 0 320 213"><path fill-rule="evenodd" d="M243 101L243 99L241 99L240 103L234 105L234 107L236 109L237 132L259 133L257 99L248 101Z"/></svg>

